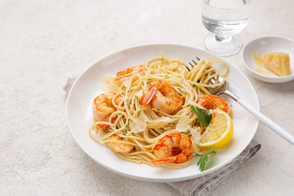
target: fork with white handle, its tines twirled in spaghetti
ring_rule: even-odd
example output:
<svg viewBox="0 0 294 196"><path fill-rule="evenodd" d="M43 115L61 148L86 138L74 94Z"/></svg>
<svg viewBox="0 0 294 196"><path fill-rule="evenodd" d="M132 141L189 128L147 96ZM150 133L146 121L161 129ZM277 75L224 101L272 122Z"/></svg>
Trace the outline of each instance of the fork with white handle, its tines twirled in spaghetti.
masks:
<svg viewBox="0 0 294 196"><path fill-rule="evenodd" d="M196 57L197 58L197 57ZM199 58L197 58L199 60ZM196 62L193 60L193 63L196 64ZM189 63L192 68L194 67L191 63ZM197 65L197 64L196 64ZM186 68L188 71L190 70L187 66ZM190 71L189 71L190 72ZM214 74L214 73L213 73ZM215 77L211 78L209 80L210 84L217 84L224 80L223 77L220 75L216 75ZM291 135L288 131L286 131L284 128L282 128L277 123L270 120L269 117L262 114L261 112L257 111L253 107L251 107L249 104L247 104L245 101L243 101L241 98L233 94L228 90L229 83L225 80L220 86L214 87L214 88L206 88L207 91L212 95L221 95L225 94L235 100L237 103L239 103L242 107L244 107L249 113L251 113L253 116L255 116L260 122L264 123L266 126L268 126L271 130L273 130L276 134L284 138L286 141L288 141L290 144L294 145L294 136Z"/></svg>

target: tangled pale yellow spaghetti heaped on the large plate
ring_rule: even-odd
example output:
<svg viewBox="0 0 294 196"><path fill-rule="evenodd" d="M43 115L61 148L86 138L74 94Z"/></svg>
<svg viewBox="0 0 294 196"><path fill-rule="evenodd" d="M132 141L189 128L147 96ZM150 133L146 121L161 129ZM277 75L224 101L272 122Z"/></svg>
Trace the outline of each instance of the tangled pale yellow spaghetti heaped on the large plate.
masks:
<svg viewBox="0 0 294 196"><path fill-rule="evenodd" d="M190 103L197 101L199 97L209 95L206 90L207 87L216 87L222 84L210 84L209 80L218 74L217 70L212 66L216 62L221 62L225 68L225 73L221 76L226 76L229 68L226 62L221 60L200 60L194 67L186 69L186 63L177 59L168 59L162 53L161 56L151 58L145 64L140 64L140 68L144 68L144 73L133 73L130 80L130 86L121 85L122 91L115 94L112 98L112 107L114 112L110 114L107 122L97 121L89 128L89 135L92 140L98 142L102 141L110 147L111 143L122 145L132 145L133 149L127 153L117 153L122 159L134 162L145 163L150 166L155 164L151 160L156 159L152 151L152 146L160 138L175 132L176 124L181 116L189 116L189 126L196 128L199 133L203 133L204 127L196 124L197 116L191 111ZM140 103L140 98L143 94L149 91L149 85L154 81L163 81L168 83L176 92L177 96L181 98L182 104L172 111L170 114L150 105L144 106ZM118 96L123 96L123 100L117 103L115 101ZM131 125L136 119L143 115L146 119L141 124L144 131L131 129ZM156 121L160 117L165 118L165 121ZM112 119L115 119L112 122ZM106 127L99 128L99 125L104 124ZM146 126L146 127L145 127ZM93 133L99 133L101 137L93 136ZM189 136L194 141L190 131L187 129L182 132ZM113 140L111 136L117 135L120 138L128 140ZM156 164L159 167L167 168L183 168L191 165L195 161L195 157L184 163L160 163Z"/></svg>

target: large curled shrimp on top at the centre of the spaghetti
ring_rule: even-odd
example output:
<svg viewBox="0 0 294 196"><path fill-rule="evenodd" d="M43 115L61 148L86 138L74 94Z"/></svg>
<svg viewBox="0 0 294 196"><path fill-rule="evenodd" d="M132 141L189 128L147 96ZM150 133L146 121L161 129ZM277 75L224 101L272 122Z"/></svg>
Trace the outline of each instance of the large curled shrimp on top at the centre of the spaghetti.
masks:
<svg viewBox="0 0 294 196"><path fill-rule="evenodd" d="M182 98L166 81L153 81L149 84L148 90L140 98L140 105L147 105L151 102L153 108L172 114L183 104Z"/></svg>

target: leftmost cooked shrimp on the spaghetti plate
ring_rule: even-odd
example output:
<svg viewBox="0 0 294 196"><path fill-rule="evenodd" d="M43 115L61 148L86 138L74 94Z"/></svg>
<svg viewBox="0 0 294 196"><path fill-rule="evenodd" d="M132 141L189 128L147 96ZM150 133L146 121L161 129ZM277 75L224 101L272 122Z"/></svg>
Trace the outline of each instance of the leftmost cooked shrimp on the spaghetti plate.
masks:
<svg viewBox="0 0 294 196"><path fill-rule="evenodd" d="M92 112L95 119L99 122L109 122L109 117L114 113L115 109L112 104L112 99L114 98L115 93L105 93L99 95L94 99L92 103ZM119 104L123 100L123 96L118 96L115 99L115 103ZM113 123L116 120L116 117L111 119ZM106 127L107 124L98 124L98 128Z"/></svg>

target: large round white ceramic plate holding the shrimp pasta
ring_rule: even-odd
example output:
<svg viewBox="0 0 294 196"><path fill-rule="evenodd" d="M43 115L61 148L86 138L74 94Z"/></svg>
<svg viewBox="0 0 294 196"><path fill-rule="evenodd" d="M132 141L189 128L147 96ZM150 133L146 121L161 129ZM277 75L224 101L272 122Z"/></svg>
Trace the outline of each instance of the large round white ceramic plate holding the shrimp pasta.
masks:
<svg viewBox="0 0 294 196"><path fill-rule="evenodd" d="M103 93L100 78L114 74L128 66L145 63L151 57L159 56L162 51L168 58L178 58L185 62L196 59L223 58L211 52L182 45L150 44L123 49L103 57L85 70L75 81L69 93L66 113L69 127L77 144L98 164L121 175L151 182L175 182L189 180L215 172L236 158L252 140L258 121L236 102L227 98L233 105L234 136L226 147L218 150L215 156L209 158L207 170L200 172L196 163L184 169L167 169L136 164L121 159L104 144L98 144L90 139L88 128L92 123L93 99ZM259 109L256 93L245 75L232 64L228 63L230 73L227 80L230 90L245 100L255 109Z"/></svg>

